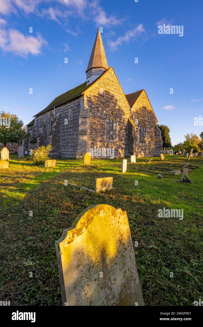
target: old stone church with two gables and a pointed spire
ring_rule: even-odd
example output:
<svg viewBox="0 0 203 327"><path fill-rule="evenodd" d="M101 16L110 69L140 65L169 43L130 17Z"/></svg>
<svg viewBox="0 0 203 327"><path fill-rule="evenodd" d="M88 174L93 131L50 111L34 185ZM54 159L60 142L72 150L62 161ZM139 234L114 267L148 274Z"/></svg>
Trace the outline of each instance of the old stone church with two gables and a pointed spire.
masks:
<svg viewBox="0 0 203 327"><path fill-rule="evenodd" d="M120 157L159 156L161 130L148 96L144 89L124 94L99 29L86 76L35 114L21 140L24 150L50 144L52 158L82 158L96 146L114 148Z"/></svg>

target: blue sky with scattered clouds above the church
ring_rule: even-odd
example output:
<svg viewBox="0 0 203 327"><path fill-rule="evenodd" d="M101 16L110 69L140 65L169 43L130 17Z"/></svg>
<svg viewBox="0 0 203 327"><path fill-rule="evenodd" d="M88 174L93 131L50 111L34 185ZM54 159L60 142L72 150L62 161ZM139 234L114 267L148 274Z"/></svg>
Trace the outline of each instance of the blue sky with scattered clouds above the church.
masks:
<svg viewBox="0 0 203 327"><path fill-rule="evenodd" d="M0 0L0 110L28 124L56 96L83 83L103 27L108 64L124 93L146 90L172 144L203 131L194 126L203 117L202 1L65 1ZM163 24L183 26L183 36L158 34Z"/></svg>

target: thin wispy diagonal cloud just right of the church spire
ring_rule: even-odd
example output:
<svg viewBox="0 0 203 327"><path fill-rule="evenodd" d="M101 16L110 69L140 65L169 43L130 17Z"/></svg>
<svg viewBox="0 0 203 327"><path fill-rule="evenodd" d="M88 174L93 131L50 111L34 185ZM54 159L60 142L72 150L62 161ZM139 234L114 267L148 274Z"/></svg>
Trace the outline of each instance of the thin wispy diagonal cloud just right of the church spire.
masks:
<svg viewBox="0 0 203 327"><path fill-rule="evenodd" d="M128 43L131 40L135 40L138 36L145 33L145 29L142 24L139 24L134 29L128 30L125 35L119 36L116 41L109 41L109 47L111 51L117 50L119 45L122 45L122 43Z"/></svg>

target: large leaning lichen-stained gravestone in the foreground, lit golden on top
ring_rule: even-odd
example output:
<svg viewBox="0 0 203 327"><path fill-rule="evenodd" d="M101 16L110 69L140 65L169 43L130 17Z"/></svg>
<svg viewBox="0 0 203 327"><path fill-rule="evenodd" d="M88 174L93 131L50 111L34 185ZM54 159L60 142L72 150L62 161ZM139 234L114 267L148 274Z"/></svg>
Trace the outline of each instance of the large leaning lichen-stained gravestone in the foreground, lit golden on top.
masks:
<svg viewBox="0 0 203 327"><path fill-rule="evenodd" d="M89 207L55 247L63 305L144 305L126 212Z"/></svg>

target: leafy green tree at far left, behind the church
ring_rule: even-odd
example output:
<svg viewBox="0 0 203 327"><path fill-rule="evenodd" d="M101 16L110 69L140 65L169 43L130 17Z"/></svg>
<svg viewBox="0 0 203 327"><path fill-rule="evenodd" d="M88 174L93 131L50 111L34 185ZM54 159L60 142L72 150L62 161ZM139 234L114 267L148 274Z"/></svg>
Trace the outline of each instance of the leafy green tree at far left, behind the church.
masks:
<svg viewBox="0 0 203 327"><path fill-rule="evenodd" d="M5 111L0 112L0 118L0 143L4 143L4 146L6 146L8 142L18 142L27 130L22 119L19 119L14 113ZM9 118L10 121L8 121L7 118ZM8 125L7 122L9 122Z"/></svg>

